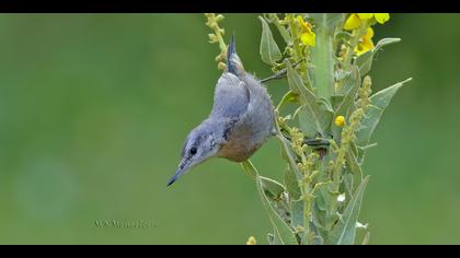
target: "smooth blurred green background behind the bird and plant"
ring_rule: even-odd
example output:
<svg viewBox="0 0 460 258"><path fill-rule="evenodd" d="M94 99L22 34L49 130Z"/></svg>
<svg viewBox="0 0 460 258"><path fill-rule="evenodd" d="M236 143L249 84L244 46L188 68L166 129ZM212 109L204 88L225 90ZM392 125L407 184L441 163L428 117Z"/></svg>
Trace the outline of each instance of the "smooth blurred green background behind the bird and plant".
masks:
<svg viewBox="0 0 460 258"><path fill-rule="evenodd" d="M375 42L375 91L409 77L377 129L361 221L371 244L460 244L460 15L394 14ZM255 14L228 14L245 68ZM212 105L218 46L203 14L0 15L0 244L266 243L271 224L238 164L211 160L166 188ZM284 81L269 84L278 102ZM280 178L278 142L253 157ZM96 220L150 228L100 228Z"/></svg>

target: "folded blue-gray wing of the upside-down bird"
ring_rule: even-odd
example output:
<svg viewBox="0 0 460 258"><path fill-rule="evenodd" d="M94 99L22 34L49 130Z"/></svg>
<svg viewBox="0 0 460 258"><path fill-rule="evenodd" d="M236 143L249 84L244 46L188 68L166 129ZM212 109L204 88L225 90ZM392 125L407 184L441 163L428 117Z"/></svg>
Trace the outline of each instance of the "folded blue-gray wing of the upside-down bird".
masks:
<svg viewBox="0 0 460 258"><path fill-rule="evenodd" d="M216 85L211 117L239 118L248 110L250 92L245 82L225 72Z"/></svg>

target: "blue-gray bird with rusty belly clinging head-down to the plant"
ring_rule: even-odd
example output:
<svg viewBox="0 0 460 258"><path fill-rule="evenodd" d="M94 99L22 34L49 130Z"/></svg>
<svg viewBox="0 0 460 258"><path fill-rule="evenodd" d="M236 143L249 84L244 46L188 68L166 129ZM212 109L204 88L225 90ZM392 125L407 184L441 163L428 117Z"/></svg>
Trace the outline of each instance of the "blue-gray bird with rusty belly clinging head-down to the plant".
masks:
<svg viewBox="0 0 460 258"><path fill-rule="evenodd" d="M227 52L227 70L217 82L212 110L185 140L177 171L168 186L210 157L248 160L274 131L271 97L261 81L244 71L234 36Z"/></svg>

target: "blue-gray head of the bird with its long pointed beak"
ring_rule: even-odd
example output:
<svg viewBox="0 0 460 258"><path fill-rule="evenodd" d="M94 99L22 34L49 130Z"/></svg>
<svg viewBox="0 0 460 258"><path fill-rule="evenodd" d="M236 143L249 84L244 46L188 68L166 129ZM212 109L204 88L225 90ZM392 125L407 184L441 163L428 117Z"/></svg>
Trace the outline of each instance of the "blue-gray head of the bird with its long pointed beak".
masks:
<svg viewBox="0 0 460 258"><path fill-rule="evenodd" d="M205 121L193 129L184 142L181 153L181 162L175 174L168 181L172 185L182 175L199 163L216 156L219 151L218 139L212 133L212 126Z"/></svg>

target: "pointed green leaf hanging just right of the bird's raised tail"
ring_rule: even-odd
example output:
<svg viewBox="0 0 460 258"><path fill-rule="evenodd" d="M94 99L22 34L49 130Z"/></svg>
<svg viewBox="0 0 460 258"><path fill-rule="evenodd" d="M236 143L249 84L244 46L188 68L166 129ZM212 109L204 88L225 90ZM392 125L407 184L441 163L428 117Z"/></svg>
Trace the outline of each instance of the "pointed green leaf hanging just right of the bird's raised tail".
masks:
<svg viewBox="0 0 460 258"><path fill-rule="evenodd" d="M258 16L258 19L262 22L262 38L260 54L264 62L273 66L276 61L281 59L283 55L278 48L278 45L276 45L276 42L273 38L268 23L262 16Z"/></svg>

